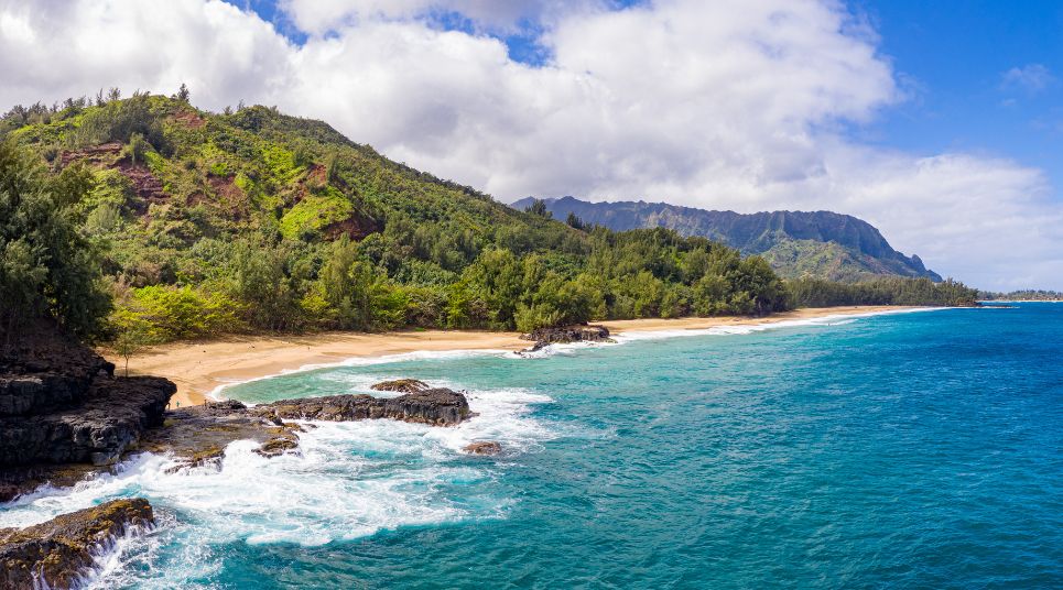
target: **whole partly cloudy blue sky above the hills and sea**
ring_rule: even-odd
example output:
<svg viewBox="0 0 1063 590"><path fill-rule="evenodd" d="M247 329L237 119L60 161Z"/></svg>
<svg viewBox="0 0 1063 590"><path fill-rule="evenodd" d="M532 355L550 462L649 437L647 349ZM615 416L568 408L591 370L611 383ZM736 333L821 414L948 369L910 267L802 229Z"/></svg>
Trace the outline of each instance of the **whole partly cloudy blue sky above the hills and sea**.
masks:
<svg viewBox="0 0 1063 590"><path fill-rule="evenodd" d="M0 0L0 109L240 100L501 201L834 210L1063 289L1063 2Z"/></svg>

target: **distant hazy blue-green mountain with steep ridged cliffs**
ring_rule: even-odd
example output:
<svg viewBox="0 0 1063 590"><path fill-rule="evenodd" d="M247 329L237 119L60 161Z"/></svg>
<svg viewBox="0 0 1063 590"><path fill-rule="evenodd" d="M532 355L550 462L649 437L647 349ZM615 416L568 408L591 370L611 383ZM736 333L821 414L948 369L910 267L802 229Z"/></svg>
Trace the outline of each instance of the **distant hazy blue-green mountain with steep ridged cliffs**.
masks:
<svg viewBox="0 0 1063 590"><path fill-rule="evenodd" d="M512 206L523 209L532 199ZM919 256L893 250L870 223L831 211L736 214L679 207L666 203L588 203L572 197L546 199L555 219L574 214L585 223L615 230L663 227L684 236L703 236L764 256L785 277L816 276L834 281L870 275L925 276L941 281Z"/></svg>

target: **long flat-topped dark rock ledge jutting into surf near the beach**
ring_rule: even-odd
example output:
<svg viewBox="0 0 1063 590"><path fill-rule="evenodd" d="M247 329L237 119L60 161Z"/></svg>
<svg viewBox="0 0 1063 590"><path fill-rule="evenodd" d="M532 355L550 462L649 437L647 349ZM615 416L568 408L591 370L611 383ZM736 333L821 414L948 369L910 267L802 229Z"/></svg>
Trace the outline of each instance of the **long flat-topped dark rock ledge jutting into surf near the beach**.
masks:
<svg viewBox="0 0 1063 590"><path fill-rule="evenodd" d="M392 398L371 395L329 395L303 400L282 400L250 409L262 417L314 420L361 420L391 418L437 426L453 426L469 417L464 395L438 387Z"/></svg>

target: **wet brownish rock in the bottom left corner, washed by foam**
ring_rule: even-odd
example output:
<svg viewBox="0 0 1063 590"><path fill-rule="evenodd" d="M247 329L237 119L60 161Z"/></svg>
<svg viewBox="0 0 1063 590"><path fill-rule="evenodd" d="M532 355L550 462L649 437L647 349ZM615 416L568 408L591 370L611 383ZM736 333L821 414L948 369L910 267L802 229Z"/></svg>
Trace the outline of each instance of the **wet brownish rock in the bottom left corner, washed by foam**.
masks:
<svg viewBox="0 0 1063 590"><path fill-rule="evenodd" d="M0 529L0 587L72 588L115 537L154 525L147 500L115 500L28 528Z"/></svg>

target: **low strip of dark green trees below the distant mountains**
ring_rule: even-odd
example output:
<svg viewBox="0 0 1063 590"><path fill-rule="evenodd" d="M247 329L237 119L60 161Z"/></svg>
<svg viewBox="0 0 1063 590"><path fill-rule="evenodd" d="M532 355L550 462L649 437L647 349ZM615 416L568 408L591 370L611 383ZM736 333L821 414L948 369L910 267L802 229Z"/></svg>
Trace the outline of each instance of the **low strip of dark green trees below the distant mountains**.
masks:
<svg viewBox="0 0 1063 590"><path fill-rule="evenodd" d="M821 278L787 282L798 307L835 305L972 305L978 291L956 281L935 283L930 278L883 277L858 283L835 283Z"/></svg>

